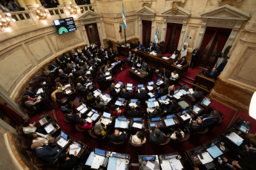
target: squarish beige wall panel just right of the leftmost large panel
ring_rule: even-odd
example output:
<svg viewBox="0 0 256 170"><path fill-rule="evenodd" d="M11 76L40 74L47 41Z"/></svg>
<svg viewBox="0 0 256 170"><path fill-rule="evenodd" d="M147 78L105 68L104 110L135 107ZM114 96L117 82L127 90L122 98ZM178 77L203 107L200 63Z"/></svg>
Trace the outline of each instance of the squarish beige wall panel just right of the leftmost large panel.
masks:
<svg viewBox="0 0 256 170"><path fill-rule="evenodd" d="M29 41L25 45L27 46L27 49L30 51L31 55L33 55L33 57L36 59L37 63L50 57L50 55L53 55L53 52L50 50L50 46L47 44L45 37Z"/></svg>

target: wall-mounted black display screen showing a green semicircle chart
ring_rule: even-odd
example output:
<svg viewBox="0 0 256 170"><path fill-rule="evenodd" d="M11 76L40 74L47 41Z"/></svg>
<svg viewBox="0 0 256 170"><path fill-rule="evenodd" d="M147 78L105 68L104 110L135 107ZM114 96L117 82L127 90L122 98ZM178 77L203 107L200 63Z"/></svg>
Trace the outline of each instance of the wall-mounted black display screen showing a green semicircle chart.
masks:
<svg viewBox="0 0 256 170"><path fill-rule="evenodd" d="M75 21L73 21L73 17L56 19L53 20L53 23L55 24L59 35L76 30L76 24Z"/></svg>

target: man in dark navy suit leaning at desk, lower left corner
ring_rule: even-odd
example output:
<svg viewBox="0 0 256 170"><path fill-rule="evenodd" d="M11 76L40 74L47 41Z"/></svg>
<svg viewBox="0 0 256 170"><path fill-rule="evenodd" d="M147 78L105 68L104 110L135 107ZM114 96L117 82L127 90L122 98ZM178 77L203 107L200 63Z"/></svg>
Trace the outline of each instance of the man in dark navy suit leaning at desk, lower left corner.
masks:
<svg viewBox="0 0 256 170"><path fill-rule="evenodd" d="M53 163L63 152L58 145L56 145L55 148L52 148L50 145L41 146L41 142L33 143L31 145L31 149L35 149L36 156L40 157L42 160L45 160L47 163Z"/></svg>

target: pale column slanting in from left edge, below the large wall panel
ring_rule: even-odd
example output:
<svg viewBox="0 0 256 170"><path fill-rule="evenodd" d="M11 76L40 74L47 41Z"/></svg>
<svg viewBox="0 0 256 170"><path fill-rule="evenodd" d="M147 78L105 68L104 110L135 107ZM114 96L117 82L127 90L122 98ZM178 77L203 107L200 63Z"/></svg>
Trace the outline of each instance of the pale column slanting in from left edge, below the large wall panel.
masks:
<svg viewBox="0 0 256 170"><path fill-rule="evenodd" d="M19 108L19 105L15 103L13 99L11 99L9 95L4 92L3 89L0 90L0 99L1 101L4 101L4 103L7 103L7 106L10 109L13 109L13 111L20 115L23 119L29 118L27 113L23 112L22 109Z"/></svg>

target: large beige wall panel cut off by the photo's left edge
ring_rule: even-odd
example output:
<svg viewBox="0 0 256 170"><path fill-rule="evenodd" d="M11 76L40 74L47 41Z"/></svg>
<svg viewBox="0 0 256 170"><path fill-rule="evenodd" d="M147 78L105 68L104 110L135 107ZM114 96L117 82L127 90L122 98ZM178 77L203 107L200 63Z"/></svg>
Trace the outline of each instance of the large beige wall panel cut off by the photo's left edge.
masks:
<svg viewBox="0 0 256 170"><path fill-rule="evenodd" d="M24 75L34 67L27 52L22 46L13 48L1 55L0 61L0 86L10 95L16 84L22 80Z"/></svg>

